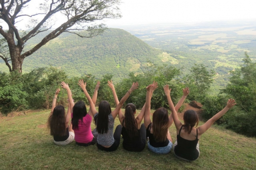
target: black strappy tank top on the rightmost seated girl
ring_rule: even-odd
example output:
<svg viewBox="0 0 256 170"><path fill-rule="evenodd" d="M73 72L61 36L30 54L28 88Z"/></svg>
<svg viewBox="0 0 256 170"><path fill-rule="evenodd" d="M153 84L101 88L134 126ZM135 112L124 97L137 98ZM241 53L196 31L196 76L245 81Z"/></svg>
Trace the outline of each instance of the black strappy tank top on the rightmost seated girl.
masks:
<svg viewBox="0 0 256 170"><path fill-rule="evenodd" d="M178 157L187 159L187 160L196 160L199 157L199 152L196 149L197 143L199 141L197 129L196 129L196 139L190 141L184 139L180 136L183 125L180 128L179 135L177 135L177 145L174 148L174 152Z"/></svg>

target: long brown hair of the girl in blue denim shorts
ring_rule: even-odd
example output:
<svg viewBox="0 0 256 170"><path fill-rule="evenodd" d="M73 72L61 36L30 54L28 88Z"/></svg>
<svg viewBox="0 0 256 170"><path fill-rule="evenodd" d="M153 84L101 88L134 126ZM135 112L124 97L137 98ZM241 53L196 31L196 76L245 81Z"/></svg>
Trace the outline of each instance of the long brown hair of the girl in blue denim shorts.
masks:
<svg viewBox="0 0 256 170"><path fill-rule="evenodd" d="M168 132L168 111L161 107L153 113L153 135L156 142L164 142L167 139Z"/></svg>

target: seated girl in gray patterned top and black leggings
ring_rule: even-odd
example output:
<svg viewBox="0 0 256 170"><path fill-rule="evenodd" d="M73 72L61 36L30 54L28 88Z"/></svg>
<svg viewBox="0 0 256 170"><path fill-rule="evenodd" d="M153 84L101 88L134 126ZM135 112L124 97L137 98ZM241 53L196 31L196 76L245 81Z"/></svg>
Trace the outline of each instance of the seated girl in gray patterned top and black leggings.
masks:
<svg viewBox="0 0 256 170"><path fill-rule="evenodd" d="M103 100L99 103L99 113L94 116L94 121L98 131L97 147L100 150L111 152L118 148L122 127L118 125L113 135L115 117L118 115L129 95L137 88L138 83L133 83L129 91L127 91L117 104L114 111L111 111L110 104L107 101Z"/></svg>

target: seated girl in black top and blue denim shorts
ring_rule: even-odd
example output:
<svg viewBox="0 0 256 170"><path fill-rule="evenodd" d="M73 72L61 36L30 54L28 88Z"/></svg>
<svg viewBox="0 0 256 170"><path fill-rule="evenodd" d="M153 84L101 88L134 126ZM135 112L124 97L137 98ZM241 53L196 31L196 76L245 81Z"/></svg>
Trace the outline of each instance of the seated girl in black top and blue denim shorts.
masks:
<svg viewBox="0 0 256 170"><path fill-rule="evenodd" d="M152 89L152 86L149 88ZM167 154L171 151L173 146L171 135L169 132L169 127L173 123L173 117L170 115L168 117L167 109L161 107L158 108L153 113L152 122L150 120L150 100L151 92L147 89L146 97L146 109L144 115L144 124L146 127L147 136L149 138L148 148L154 153ZM186 99L188 93L183 93L183 96L175 106L175 110L178 111L184 100Z"/></svg>

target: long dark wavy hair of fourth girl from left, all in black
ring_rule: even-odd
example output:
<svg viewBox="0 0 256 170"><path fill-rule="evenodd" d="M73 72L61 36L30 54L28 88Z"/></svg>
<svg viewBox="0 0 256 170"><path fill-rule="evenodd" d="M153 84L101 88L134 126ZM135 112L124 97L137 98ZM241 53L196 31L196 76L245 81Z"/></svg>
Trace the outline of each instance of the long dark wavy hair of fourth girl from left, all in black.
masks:
<svg viewBox="0 0 256 170"><path fill-rule="evenodd" d="M138 135L138 125L137 125L137 121L135 120L135 114L134 114L135 111L136 111L136 106L134 104L129 103L125 106L125 113L124 113L125 129L130 138L134 138Z"/></svg>

